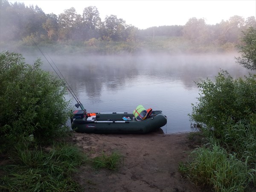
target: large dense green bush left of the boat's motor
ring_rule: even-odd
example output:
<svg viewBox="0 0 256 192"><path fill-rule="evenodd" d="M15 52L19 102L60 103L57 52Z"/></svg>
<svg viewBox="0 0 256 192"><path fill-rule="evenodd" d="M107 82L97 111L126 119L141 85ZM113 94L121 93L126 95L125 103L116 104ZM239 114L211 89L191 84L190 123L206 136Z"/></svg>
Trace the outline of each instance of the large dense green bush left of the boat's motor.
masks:
<svg viewBox="0 0 256 192"><path fill-rule="evenodd" d="M70 108L62 82L40 69L40 59L26 64L22 55L0 54L1 149L28 140L48 141L67 132Z"/></svg>

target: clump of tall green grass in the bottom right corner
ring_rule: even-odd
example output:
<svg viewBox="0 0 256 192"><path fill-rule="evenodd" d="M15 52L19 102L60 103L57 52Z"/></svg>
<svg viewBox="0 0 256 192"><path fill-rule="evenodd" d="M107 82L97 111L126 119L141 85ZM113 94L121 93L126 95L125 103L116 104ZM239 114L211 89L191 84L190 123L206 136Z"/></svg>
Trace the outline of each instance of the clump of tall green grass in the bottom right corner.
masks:
<svg viewBox="0 0 256 192"><path fill-rule="evenodd" d="M256 169L250 169L247 162L228 154L217 143L195 149L192 161L183 170L197 185L213 186L215 192L244 192L251 181L256 181Z"/></svg>

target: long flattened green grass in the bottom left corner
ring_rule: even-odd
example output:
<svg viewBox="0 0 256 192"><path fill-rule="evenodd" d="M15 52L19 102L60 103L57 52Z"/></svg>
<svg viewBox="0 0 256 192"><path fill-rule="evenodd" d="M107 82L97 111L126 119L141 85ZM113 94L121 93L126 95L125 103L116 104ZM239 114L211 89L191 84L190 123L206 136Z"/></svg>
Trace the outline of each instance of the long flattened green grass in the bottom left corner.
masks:
<svg viewBox="0 0 256 192"><path fill-rule="evenodd" d="M52 148L31 149L16 147L13 165L1 166L6 176L0 178L0 191L80 191L81 188L70 175L87 158L79 148L55 144Z"/></svg>

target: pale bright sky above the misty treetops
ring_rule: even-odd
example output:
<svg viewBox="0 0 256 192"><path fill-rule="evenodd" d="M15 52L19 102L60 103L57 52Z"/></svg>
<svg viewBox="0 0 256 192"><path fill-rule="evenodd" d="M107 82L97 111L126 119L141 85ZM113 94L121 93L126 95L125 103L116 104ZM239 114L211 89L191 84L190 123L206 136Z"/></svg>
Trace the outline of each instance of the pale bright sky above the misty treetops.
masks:
<svg viewBox="0 0 256 192"><path fill-rule="evenodd" d="M256 17L256 0L8 0L37 5L44 13L59 15L74 7L82 15L85 7L96 6L102 21L116 15L139 29L152 26L185 25L196 17L215 25L234 15Z"/></svg>

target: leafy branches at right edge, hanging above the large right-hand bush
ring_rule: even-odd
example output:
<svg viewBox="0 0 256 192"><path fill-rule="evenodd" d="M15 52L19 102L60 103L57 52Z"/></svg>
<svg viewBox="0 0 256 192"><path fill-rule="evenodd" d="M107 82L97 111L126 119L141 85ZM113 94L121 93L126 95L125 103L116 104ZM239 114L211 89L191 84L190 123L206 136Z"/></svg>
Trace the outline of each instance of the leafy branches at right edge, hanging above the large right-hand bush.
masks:
<svg viewBox="0 0 256 192"><path fill-rule="evenodd" d="M256 70L256 29L249 27L243 34L242 44L237 46L241 57L236 58L236 62L246 69Z"/></svg>

